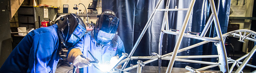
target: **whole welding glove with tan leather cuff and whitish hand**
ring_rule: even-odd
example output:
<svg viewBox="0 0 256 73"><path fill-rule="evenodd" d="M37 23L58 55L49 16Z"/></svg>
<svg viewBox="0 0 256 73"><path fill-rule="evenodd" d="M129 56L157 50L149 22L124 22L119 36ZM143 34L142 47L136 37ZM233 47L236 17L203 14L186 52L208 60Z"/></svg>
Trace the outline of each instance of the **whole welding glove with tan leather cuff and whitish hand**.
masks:
<svg viewBox="0 0 256 73"><path fill-rule="evenodd" d="M68 62L73 63L77 68L91 66L90 59L83 56L79 48L73 48L68 54Z"/></svg>

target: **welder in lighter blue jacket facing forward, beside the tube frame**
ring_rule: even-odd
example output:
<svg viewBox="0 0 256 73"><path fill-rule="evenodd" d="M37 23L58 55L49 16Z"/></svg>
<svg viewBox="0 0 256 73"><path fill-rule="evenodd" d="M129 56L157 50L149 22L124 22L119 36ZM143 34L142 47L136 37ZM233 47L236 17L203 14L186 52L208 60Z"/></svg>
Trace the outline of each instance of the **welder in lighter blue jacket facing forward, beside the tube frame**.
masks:
<svg viewBox="0 0 256 73"><path fill-rule="evenodd" d="M103 64L109 62L110 59L116 55L121 56L125 52L123 41L117 35L117 28L119 19L111 10L105 10L101 15L97 16L97 22L92 32L84 35L83 38L74 46L69 48L68 61L74 63L74 66L83 68L83 73L101 73L94 66L84 66L83 61L77 61L75 58L81 56L93 59L87 52L88 50L95 56L99 63Z"/></svg>

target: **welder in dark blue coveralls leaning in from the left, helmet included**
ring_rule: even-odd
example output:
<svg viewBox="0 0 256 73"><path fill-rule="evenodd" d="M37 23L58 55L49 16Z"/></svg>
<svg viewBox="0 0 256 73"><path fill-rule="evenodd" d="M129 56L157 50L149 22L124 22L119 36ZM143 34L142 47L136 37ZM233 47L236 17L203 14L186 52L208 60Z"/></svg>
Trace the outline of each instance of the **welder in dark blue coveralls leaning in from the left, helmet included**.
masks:
<svg viewBox="0 0 256 73"><path fill-rule="evenodd" d="M8 56L0 72L55 73L61 42L71 47L86 32L82 19L76 14L61 16L59 19L57 24L27 34Z"/></svg>

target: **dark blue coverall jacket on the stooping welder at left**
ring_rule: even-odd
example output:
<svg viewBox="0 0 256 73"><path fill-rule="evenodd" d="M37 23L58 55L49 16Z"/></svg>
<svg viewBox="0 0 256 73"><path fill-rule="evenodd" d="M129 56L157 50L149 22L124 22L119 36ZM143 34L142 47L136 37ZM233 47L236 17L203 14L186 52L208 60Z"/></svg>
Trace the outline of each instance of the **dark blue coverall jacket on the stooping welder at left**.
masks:
<svg viewBox="0 0 256 73"><path fill-rule="evenodd" d="M61 41L58 26L36 29L13 49L1 73L55 73Z"/></svg>

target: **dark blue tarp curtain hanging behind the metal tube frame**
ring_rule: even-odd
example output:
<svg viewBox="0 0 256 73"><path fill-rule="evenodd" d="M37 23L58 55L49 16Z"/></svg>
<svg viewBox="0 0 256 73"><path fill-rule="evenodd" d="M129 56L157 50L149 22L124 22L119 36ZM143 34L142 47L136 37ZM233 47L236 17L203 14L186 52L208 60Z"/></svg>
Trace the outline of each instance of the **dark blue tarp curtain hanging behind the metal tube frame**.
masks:
<svg viewBox="0 0 256 73"><path fill-rule="evenodd" d="M144 29L150 15L152 14L157 2L159 0L102 0L102 11L109 9L116 13L120 19L118 35L124 42L126 53L130 53L132 47L137 41L139 35ZM171 0L169 8L188 8L190 1L188 0ZM161 3L160 9L164 9L166 0ZM218 5L218 1L215 1L215 5ZM219 5L218 17L222 33L227 32L228 16L230 10L230 0L221 0ZM187 11L169 11L169 28L181 29ZM161 25L163 21L163 11L157 11L157 14L150 22L145 35L142 37L133 56L150 56L152 52L158 53L158 42L160 36ZM211 14L210 5L208 0L196 0L192 15L190 17L187 31L202 32L209 16ZM208 30L206 36L217 36L214 24ZM173 51L178 36L164 35L162 54L166 54ZM189 45L201 42L201 40L186 38L182 40L180 48L187 47ZM209 55L217 54L216 46L213 43L207 43L184 52L178 53L178 55ZM204 61L214 61L215 59L195 59ZM145 60L143 60L145 61ZM158 66L158 61L152 62L147 65ZM168 66L169 61L163 60L162 66ZM137 60L132 60L131 64L137 64ZM178 62L176 61L174 67L191 66L194 68L204 67L206 65Z"/></svg>

